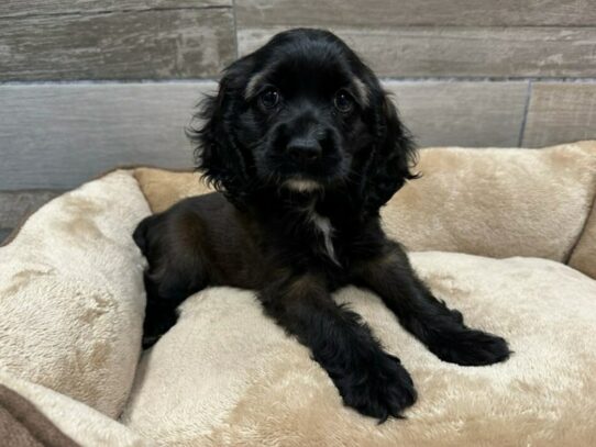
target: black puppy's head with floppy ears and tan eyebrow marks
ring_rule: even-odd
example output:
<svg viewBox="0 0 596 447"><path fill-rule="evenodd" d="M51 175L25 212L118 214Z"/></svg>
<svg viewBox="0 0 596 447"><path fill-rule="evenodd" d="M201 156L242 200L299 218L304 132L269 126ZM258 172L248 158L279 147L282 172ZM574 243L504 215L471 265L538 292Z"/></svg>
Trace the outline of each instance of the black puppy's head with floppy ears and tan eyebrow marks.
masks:
<svg viewBox="0 0 596 447"><path fill-rule="evenodd" d="M239 204L263 188L345 190L376 212L413 147L373 71L330 32L291 30L239 59L207 98L198 168Z"/></svg>

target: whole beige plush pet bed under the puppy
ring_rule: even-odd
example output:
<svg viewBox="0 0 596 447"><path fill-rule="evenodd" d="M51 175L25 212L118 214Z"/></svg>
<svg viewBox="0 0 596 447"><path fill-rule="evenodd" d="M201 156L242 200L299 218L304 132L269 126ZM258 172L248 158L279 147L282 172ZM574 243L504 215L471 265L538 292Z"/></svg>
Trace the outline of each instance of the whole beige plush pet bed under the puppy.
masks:
<svg viewBox="0 0 596 447"><path fill-rule="evenodd" d="M596 445L596 142L424 149L419 169L385 226L438 295L509 340L509 361L442 362L356 288L336 300L411 372L407 420L377 425L344 407L251 291L197 293L142 355L132 231L205 189L192 174L117 170L46 204L0 248L0 436L14 424L42 436L15 416L11 399L24 398L84 446Z"/></svg>

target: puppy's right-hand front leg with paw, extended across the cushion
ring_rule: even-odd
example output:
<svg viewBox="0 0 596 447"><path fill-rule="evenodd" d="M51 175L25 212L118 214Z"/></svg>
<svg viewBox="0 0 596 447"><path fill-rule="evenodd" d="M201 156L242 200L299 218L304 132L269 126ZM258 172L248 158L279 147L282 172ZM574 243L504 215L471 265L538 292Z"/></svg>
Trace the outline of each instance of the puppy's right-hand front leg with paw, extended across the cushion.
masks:
<svg viewBox="0 0 596 447"><path fill-rule="evenodd" d="M467 327L459 311L434 298L397 244L386 242L378 256L361 262L355 273L380 295L401 325L442 360L481 366L509 357L505 339Z"/></svg>

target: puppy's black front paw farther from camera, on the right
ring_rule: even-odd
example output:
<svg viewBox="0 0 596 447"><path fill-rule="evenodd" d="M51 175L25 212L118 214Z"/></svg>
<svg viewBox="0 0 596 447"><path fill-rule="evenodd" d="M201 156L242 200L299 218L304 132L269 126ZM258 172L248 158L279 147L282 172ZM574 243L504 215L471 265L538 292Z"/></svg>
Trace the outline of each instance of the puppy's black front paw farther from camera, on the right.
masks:
<svg viewBox="0 0 596 447"><path fill-rule="evenodd" d="M504 338L467 327L439 333L429 349L441 360L461 366L493 365L511 354Z"/></svg>

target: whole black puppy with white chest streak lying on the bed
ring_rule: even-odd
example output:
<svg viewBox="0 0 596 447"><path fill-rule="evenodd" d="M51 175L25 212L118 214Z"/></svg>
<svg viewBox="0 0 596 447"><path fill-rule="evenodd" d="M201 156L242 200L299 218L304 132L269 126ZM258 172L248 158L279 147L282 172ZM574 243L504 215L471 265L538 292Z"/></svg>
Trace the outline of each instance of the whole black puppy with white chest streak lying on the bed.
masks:
<svg viewBox="0 0 596 447"><path fill-rule="evenodd" d="M385 421L416 401L399 359L331 293L376 292L439 358L490 365L506 342L472 329L417 278L379 224L415 176L408 133L378 79L333 34L293 30L232 64L190 131L198 169L221 191L147 217L145 346L208 286L257 291L268 315L308 346L345 404Z"/></svg>

